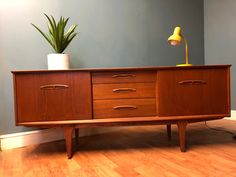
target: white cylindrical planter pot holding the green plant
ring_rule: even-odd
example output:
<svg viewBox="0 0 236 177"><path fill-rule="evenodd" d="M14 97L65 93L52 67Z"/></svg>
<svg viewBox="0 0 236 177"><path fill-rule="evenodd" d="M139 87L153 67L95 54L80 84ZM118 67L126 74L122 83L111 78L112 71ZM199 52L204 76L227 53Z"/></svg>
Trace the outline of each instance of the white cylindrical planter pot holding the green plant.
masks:
<svg viewBox="0 0 236 177"><path fill-rule="evenodd" d="M69 69L70 56L68 54L48 54L48 70Z"/></svg>

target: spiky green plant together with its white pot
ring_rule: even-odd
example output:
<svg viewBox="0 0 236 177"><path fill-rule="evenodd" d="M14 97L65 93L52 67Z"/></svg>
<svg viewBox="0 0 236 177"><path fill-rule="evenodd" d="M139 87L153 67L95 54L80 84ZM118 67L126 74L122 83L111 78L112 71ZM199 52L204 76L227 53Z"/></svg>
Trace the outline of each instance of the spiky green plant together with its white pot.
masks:
<svg viewBox="0 0 236 177"><path fill-rule="evenodd" d="M72 25L67 31L65 30L69 18L60 17L58 22L54 17L44 14L48 21L48 33L43 32L36 25L31 23L52 46L55 53L48 54L48 69L69 69L69 55L63 51L68 47L74 37L78 34L75 32L76 24Z"/></svg>

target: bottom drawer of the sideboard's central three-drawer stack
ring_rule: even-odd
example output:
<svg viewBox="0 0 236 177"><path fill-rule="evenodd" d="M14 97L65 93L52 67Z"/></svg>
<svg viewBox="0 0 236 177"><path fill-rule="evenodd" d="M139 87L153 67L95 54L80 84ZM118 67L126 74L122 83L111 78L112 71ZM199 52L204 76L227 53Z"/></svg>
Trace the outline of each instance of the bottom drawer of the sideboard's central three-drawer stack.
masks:
<svg viewBox="0 0 236 177"><path fill-rule="evenodd" d="M155 116L155 99L95 100L94 118Z"/></svg>

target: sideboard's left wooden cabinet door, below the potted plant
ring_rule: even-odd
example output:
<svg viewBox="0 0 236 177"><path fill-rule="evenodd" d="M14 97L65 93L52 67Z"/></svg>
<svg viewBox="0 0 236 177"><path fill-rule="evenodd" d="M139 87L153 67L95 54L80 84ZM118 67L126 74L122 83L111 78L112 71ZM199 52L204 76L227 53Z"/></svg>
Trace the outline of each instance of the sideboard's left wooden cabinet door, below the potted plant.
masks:
<svg viewBox="0 0 236 177"><path fill-rule="evenodd" d="M15 74L17 123L91 119L89 72Z"/></svg>

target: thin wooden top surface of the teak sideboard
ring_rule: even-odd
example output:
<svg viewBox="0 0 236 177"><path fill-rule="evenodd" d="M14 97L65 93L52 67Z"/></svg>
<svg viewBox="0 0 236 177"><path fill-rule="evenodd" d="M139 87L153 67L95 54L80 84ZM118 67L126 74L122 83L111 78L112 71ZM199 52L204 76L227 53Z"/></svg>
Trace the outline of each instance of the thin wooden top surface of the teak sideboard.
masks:
<svg viewBox="0 0 236 177"><path fill-rule="evenodd" d="M35 73L35 72L73 72L73 71L90 71L90 72L99 72L99 71L139 71L139 70L189 70L189 69L211 69L211 68L229 68L231 65L195 65L195 66L185 66L185 67L176 67L176 66L146 66L146 67L119 67L119 68L79 68L79 69L69 69L69 70L15 70L11 71L14 73Z"/></svg>

